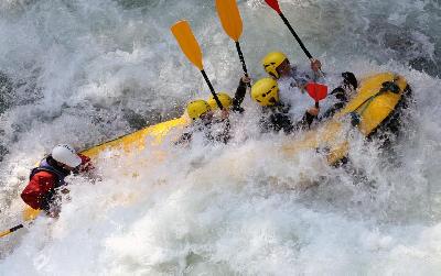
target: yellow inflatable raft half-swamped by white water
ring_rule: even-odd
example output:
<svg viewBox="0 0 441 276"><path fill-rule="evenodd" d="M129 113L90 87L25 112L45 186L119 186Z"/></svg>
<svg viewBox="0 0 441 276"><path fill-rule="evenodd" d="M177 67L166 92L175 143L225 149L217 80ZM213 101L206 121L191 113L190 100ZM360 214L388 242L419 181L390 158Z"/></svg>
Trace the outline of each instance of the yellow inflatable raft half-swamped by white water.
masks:
<svg viewBox="0 0 441 276"><path fill-rule="evenodd" d="M316 129L306 132L302 139L286 143L282 150L287 155L293 155L302 150L325 150L329 163L336 164L347 155L348 151L348 142L344 135L344 122L347 121L347 118L356 118L359 131L365 136L369 136L387 121L396 120L396 111L406 100L409 91L406 79L399 75L381 73L367 77L362 80L357 95L343 110L329 121L319 124ZM120 148L126 152L142 150L148 146L146 141L161 144L170 131L187 124L189 119L183 115L94 146L82 153L94 158L99 153L111 148ZM31 220L37 212L26 210L24 219Z"/></svg>

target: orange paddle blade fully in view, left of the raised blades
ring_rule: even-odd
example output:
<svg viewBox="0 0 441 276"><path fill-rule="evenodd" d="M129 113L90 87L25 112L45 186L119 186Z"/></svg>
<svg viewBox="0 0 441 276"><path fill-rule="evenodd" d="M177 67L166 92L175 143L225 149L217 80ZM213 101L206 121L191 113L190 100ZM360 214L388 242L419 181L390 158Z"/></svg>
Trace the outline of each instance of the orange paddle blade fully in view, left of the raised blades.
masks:
<svg viewBox="0 0 441 276"><path fill-rule="evenodd" d="M189 60L200 70L203 70L204 65L202 64L202 51L196 37L194 37L189 22L185 20L178 21L172 25L171 31Z"/></svg>

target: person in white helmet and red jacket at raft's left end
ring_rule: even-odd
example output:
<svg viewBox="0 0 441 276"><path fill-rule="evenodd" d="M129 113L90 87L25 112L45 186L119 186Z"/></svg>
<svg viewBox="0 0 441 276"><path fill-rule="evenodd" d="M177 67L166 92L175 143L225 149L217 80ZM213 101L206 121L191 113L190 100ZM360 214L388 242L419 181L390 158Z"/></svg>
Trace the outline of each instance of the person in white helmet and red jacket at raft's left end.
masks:
<svg viewBox="0 0 441 276"><path fill-rule="evenodd" d="M61 211L61 194L68 192L65 178L90 169L93 165L89 157L77 154L71 145L57 145L32 169L21 198L31 208L57 217Z"/></svg>

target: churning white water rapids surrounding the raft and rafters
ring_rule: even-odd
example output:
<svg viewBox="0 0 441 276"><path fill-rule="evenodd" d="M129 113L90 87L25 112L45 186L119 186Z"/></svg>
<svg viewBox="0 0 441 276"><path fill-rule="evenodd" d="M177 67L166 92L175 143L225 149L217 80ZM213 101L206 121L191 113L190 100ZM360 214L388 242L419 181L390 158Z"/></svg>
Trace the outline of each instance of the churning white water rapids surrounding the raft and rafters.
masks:
<svg viewBox="0 0 441 276"><path fill-rule="evenodd" d="M259 135L247 97L228 145L100 156L101 179L72 177L58 220L0 240L0 275L440 275L440 2L280 2L325 71L407 78L416 103L391 148L354 137L352 170L283 156L292 137ZM270 51L308 66L263 1L239 9L255 79ZM20 192L53 145L85 148L209 96L169 30L183 18L214 87L233 92L241 67L214 1L0 2L0 231L21 222Z"/></svg>

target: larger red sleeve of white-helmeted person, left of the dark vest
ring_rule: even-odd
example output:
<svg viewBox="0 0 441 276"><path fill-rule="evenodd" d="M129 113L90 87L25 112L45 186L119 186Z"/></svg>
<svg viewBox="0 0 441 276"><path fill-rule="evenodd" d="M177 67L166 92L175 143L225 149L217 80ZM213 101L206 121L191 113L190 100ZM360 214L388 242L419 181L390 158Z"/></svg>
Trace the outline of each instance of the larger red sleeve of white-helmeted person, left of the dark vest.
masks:
<svg viewBox="0 0 441 276"><path fill-rule="evenodd" d="M21 194L23 201L39 210L49 210L55 187L55 177L47 172L36 173Z"/></svg>

